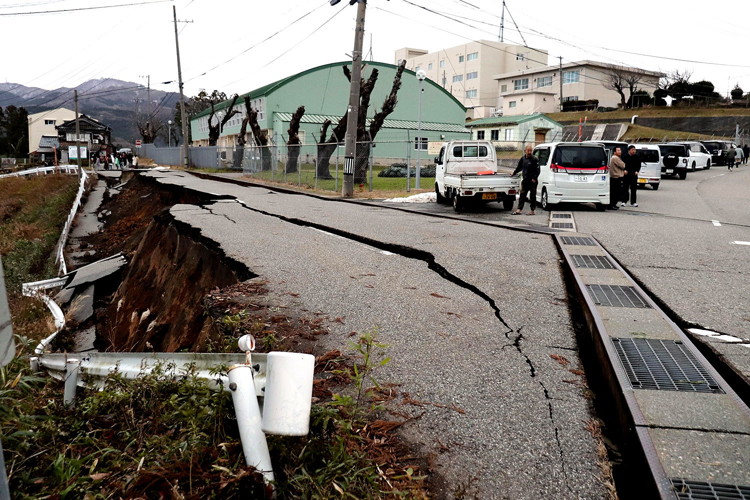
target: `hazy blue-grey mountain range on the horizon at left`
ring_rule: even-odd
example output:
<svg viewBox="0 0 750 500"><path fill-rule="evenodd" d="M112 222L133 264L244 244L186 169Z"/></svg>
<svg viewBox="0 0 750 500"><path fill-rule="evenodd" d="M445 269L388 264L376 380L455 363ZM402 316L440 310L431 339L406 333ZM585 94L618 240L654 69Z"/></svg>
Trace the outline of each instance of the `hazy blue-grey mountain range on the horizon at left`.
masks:
<svg viewBox="0 0 750 500"><path fill-rule="evenodd" d="M133 145L139 139L136 115L146 115L148 91L145 85L113 78L90 79L74 88L54 90L27 87L19 83L0 83L0 107L23 106L29 114L55 108L74 109L74 90L78 90L78 111L112 127L115 145ZM163 121L174 120L177 92L151 88L151 113Z"/></svg>

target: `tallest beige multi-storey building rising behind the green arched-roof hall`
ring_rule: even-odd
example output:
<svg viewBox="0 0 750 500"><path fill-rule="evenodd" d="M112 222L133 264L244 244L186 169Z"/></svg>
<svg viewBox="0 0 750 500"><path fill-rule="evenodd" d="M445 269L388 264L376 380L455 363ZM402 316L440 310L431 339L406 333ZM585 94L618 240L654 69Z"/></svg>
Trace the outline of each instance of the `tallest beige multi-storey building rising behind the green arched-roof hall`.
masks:
<svg viewBox="0 0 750 500"><path fill-rule="evenodd" d="M453 94L468 108L467 118L493 115L497 105L495 75L547 65L547 52L510 43L476 40L428 52L404 47L395 64L407 60L407 69L425 70L427 77Z"/></svg>

